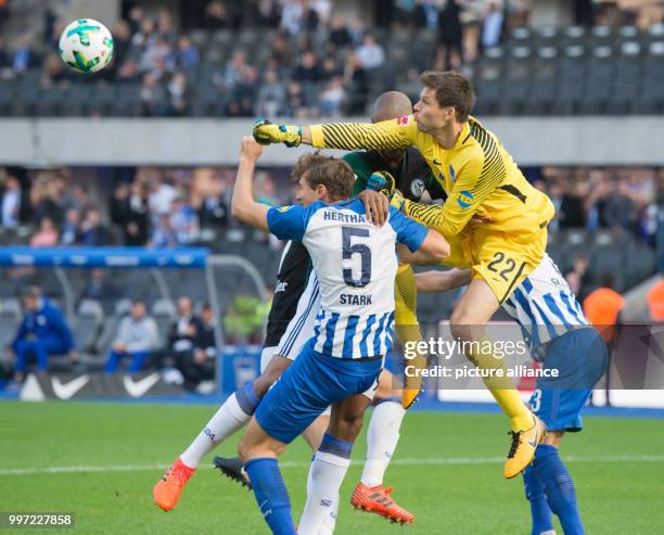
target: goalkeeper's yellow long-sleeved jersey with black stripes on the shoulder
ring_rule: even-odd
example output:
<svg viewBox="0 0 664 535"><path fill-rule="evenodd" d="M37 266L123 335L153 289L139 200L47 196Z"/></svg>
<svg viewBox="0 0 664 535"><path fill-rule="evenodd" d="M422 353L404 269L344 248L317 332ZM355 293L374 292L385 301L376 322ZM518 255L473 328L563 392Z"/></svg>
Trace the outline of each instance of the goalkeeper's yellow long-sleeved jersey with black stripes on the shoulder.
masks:
<svg viewBox="0 0 664 535"><path fill-rule="evenodd" d="M439 206L407 201L406 213L443 235L459 234L474 215L488 218L483 230L527 242L553 218L553 203L523 176L493 132L474 117L452 149L418 129L412 115L375 124L333 123L311 126L311 144L333 149L399 149L414 145L447 193Z"/></svg>

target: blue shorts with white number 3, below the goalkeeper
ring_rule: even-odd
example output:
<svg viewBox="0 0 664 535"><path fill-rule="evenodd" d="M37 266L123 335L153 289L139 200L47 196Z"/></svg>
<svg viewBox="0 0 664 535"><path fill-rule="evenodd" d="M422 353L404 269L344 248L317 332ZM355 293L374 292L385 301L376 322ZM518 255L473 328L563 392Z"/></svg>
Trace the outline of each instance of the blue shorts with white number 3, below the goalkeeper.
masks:
<svg viewBox="0 0 664 535"><path fill-rule="evenodd" d="M558 378L539 378L531 407L549 431L580 431L580 411L592 387L606 371L606 346L593 328L567 332L549 342L544 369L557 369Z"/></svg>

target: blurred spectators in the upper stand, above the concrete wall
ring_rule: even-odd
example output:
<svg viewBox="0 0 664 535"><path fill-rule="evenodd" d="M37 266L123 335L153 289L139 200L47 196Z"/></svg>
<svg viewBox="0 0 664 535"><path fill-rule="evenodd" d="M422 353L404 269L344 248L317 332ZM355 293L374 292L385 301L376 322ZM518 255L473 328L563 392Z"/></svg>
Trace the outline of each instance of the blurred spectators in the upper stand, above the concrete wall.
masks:
<svg viewBox="0 0 664 535"><path fill-rule="evenodd" d="M7 2L4 11L0 7L0 24L11 12ZM207 94L222 102L219 112L227 116L362 114L375 82L400 89L412 82L413 73L394 72L388 59L395 33L408 29L410 40L424 31L435 36L426 41L430 53L419 54L419 64L411 65L416 72L463 68L483 49L499 44L510 28L527 25L531 11L529 0L376 1L373 16L367 16L375 18L370 27L365 18L333 14L332 3L194 0L181 2L176 20L167 8L149 11L141 2L125 2L125 16L112 28L116 60L89 81L137 85L144 116L190 114L208 86L213 92ZM662 21L662 9L653 11L652 2L641 7L635 0L624 9L622 3L576 0L576 23L647 26ZM21 77L40 68L42 87L82 82L56 53L65 24L47 11L42 42L30 34L12 43L0 38L0 73ZM258 48L230 34L247 28L256 31L254 40L260 37ZM194 43L192 36L201 30L230 37L221 50L205 38ZM196 75L202 65L209 76Z"/></svg>

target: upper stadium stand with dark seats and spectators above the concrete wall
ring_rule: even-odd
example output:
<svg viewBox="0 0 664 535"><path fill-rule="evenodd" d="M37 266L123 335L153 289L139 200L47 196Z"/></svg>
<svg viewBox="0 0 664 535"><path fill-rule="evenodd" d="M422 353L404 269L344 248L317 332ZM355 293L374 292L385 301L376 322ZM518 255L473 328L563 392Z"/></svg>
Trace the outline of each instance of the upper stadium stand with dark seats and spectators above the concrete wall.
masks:
<svg viewBox="0 0 664 535"><path fill-rule="evenodd" d="M56 21L53 29L43 28L48 36L43 40L26 38L31 59L17 69L17 50L8 42L14 42L11 37L18 34L18 22L26 16L25 7L15 5L23 3L10 4L4 47L13 61L1 69L1 116L248 117L265 110L265 99L258 97L266 86L272 89L266 97L272 116L363 114L386 88L412 92L410 68L442 66L431 52L442 30L422 23L417 14L396 11L388 21L390 31L382 27L368 31L340 17L330 21L321 14L302 14L294 23L298 30L291 31L291 23L284 21L267 29L260 26L250 2L246 14L235 13L230 27L210 26L206 15L192 15L177 33L176 23L165 22L171 18L169 12L132 10L115 31L115 65L94 80L67 73L49 52L55 31L62 28L53 9L47 12ZM477 17L483 24L482 5L488 2L472 3L480 4ZM228 8L233 5L229 2ZM35 10L43 8L36 4ZM436 16L440 20L439 13ZM635 25L634 13L613 16L611 25L601 24L606 20L597 7L595 21L600 24L595 26L529 28L523 25L518 7L507 2L496 46L482 50L477 36L465 48L480 48L478 56L470 50L462 54L460 68L477 85L476 113L663 114L662 14L641 27ZM470 35L473 27L467 24L463 31ZM378 42L368 47L365 38Z"/></svg>

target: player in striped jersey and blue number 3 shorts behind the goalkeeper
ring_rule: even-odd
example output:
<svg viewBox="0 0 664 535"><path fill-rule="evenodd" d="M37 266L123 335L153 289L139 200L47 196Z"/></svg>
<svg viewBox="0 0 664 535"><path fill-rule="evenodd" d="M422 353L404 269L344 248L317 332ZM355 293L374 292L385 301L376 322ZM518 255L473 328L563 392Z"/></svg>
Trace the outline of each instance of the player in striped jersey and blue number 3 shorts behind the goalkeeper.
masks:
<svg viewBox="0 0 664 535"><path fill-rule="evenodd" d="M470 280L469 269L416 273L419 292L449 291ZM565 432L583 428L580 411L606 369L606 347L546 254L501 307L521 327L531 356L559 373L558 378L538 378L529 402L547 425L547 436L523 473L531 502L531 534L554 535L553 512L565 535L583 535L574 483L559 447Z"/></svg>

